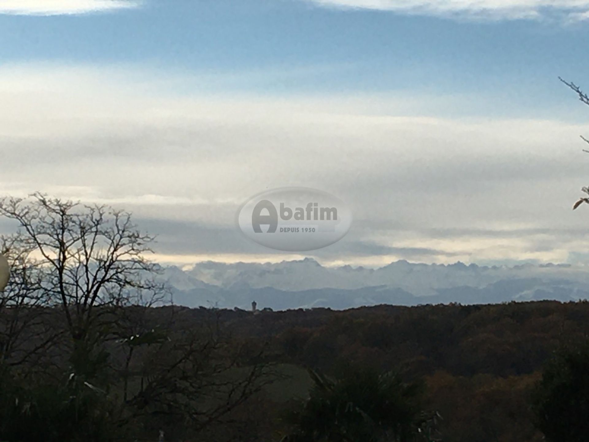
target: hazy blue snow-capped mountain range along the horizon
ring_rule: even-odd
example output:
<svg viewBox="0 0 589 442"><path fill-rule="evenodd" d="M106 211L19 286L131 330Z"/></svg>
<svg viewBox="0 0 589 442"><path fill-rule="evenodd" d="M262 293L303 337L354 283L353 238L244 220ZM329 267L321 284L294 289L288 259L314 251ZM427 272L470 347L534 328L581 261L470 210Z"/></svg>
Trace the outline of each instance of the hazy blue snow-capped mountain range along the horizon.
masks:
<svg viewBox="0 0 589 442"><path fill-rule="evenodd" d="M329 268L313 259L280 263L201 262L160 275L174 302L190 307L354 308L376 304L492 304L589 299L589 266L477 266L393 262L378 269Z"/></svg>

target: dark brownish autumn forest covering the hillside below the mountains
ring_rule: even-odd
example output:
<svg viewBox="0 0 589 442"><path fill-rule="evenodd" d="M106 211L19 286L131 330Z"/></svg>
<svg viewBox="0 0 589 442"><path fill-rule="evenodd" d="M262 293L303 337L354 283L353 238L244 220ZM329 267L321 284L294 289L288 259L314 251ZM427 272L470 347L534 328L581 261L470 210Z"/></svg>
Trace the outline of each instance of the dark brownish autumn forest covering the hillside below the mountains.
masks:
<svg viewBox="0 0 589 442"><path fill-rule="evenodd" d="M242 349L264 347L260 357L273 366L272 384L204 428L203 440L234 440L237 434L250 435L244 440L277 440L289 431L284 413L312 385L305 367L333 376L342 364L352 363L423 382L424 407L443 418L440 440L539 441L530 398L542 366L561 345L580 341L589 332L585 301L381 305L257 315L179 306L147 311L150 324L173 314L174 333L200 328L214 318L227 342L233 340Z"/></svg>

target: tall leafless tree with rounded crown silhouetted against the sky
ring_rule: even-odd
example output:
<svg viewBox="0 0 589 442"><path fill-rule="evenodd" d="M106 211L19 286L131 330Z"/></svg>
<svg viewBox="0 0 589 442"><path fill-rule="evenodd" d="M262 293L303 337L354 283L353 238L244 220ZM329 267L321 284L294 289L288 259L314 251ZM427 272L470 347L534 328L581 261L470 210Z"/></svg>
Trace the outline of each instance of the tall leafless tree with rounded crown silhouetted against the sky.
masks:
<svg viewBox="0 0 589 442"><path fill-rule="evenodd" d="M0 215L19 225L21 246L42 269L40 290L61 306L70 337L88 341L112 321L112 308L137 301L137 293L163 289L154 282L154 237L140 232L131 215L44 194L0 200Z"/></svg>

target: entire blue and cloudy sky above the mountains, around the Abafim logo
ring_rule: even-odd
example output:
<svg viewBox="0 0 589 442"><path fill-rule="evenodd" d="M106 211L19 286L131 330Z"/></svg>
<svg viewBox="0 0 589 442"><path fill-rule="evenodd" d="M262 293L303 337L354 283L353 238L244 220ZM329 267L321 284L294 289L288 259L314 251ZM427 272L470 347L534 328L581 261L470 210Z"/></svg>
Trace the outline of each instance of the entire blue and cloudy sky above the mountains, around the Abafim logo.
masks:
<svg viewBox="0 0 589 442"><path fill-rule="evenodd" d="M0 0L0 194L130 210L177 265L585 265L588 42L589 0ZM285 186L348 235L250 242Z"/></svg>

